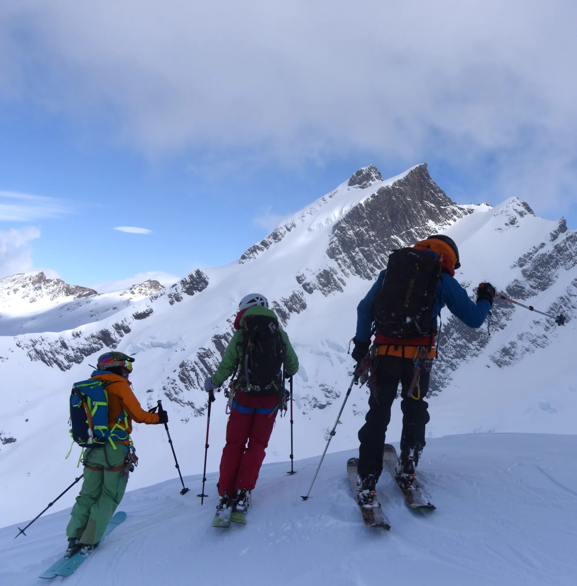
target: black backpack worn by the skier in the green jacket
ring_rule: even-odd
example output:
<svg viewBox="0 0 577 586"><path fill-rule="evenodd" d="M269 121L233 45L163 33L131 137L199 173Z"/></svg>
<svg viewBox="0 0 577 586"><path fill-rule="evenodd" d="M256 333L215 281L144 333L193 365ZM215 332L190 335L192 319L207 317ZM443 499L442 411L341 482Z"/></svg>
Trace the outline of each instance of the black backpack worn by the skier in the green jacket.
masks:
<svg viewBox="0 0 577 586"><path fill-rule="evenodd" d="M278 320L268 315L245 315L242 347L238 386L255 394L281 390L286 345Z"/></svg>

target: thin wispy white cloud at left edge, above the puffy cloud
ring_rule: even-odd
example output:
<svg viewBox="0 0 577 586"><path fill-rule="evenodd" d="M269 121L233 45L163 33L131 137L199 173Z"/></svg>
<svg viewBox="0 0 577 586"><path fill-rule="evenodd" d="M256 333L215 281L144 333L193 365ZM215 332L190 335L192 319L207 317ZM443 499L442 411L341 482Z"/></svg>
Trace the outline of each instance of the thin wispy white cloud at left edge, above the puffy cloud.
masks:
<svg viewBox="0 0 577 586"><path fill-rule="evenodd" d="M70 212L67 202L54 197L0 191L0 220L4 222L36 222L46 218L60 218Z"/></svg>

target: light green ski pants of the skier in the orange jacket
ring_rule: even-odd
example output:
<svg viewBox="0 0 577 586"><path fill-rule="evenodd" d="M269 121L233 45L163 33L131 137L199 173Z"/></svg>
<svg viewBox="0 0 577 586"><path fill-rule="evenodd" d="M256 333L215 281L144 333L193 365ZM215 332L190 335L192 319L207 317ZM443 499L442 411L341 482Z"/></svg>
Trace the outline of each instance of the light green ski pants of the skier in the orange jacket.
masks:
<svg viewBox="0 0 577 586"><path fill-rule="evenodd" d="M114 449L111 444L106 444L85 454L84 482L72 507L66 536L76 537L80 543L95 544L102 539L126 490L127 481L121 476L122 470L107 470L108 464L111 468L122 465L126 458L126 446L116 444ZM103 470L91 470L86 465Z"/></svg>

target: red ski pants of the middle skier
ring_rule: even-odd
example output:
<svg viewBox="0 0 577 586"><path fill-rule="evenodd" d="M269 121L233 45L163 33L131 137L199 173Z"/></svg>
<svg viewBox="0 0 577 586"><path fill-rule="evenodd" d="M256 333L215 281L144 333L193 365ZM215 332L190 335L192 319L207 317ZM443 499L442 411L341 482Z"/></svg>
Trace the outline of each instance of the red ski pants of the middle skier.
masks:
<svg viewBox="0 0 577 586"><path fill-rule="evenodd" d="M258 397L242 391L236 393L220 460L220 496L225 492L232 496L240 489L254 489L278 413L276 406L276 394Z"/></svg>

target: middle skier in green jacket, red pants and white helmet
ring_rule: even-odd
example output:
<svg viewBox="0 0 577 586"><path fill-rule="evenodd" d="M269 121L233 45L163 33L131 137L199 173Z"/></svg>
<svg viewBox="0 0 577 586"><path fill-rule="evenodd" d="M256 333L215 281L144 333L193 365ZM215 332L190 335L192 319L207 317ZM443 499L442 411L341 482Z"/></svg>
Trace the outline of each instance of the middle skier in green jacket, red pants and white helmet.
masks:
<svg viewBox="0 0 577 586"><path fill-rule="evenodd" d="M219 509L242 505L254 489L276 414L286 400L283 371L288 379L299 369L291 342L264 295L247 295L238 309L236 332L218 369L204 381L204 389L210 392L238 369L220 461Z"/></svg>

